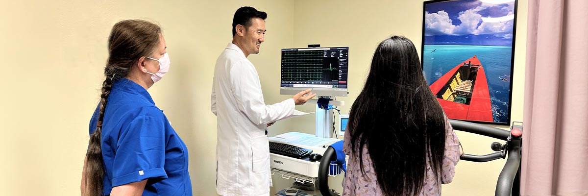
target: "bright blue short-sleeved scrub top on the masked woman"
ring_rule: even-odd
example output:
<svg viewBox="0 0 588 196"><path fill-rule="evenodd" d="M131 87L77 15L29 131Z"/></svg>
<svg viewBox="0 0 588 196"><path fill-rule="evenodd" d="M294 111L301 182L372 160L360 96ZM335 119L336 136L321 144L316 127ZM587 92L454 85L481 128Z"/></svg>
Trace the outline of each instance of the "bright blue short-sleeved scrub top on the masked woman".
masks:
<svg viewBox="0 0 588 196"><path fill-rule="evenodd" d="M90 121L95 131L99 105ZM122 78L108 96L102 125L104 195L147 180L143 195L192 195L188 149L141 85Z"/></svg>

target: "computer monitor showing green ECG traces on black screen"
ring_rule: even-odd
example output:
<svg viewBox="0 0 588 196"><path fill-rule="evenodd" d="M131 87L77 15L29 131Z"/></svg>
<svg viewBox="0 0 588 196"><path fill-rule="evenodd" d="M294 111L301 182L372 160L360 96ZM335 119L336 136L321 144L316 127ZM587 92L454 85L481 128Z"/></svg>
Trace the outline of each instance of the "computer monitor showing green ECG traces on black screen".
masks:
<svg viewBox="0 0 588 196"><path fill-rule="evenodd" d="M348 94L349 47L284 48L280 94L312 89L319 96Z"/></svg>

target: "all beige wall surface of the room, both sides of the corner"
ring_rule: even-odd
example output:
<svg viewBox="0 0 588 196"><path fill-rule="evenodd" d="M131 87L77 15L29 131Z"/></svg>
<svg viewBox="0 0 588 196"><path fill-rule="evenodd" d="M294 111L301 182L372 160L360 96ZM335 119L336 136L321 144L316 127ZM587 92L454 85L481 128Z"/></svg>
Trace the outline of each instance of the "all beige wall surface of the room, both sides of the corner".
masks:
<svg viewBox="0 0 588 196"><path fill-rule="evenodd" d="M172 60L165 79L149 89L188 145L195 195L215 195L216 118L209 111L213 65L230 42L232 15L250 5L269 14L258 67L266 102L279 95L280 48L306 44L350 46L349 106L363 84L376 44L405 35L420 45L420 1L7 1L0 12L0 178L2 195L76 195L88 142L89 117L98 103L106 39L129 18L163 27ZM341 14L343 13L343 14ZM333 18L329 22L316 18ZM519 1L513 120L522 120L526 1ZM312 106L299 107L313 111ZM314 117L289 119L270 134L314 132ZM490 152L492 139L458 133L468 153ZM447 195L491 195L503 161L460 162ZM277 185L289 181L274 178ZM339 180L338 178L337 180ZM335 187L335 186L333 186ZM272 189L274 190L274 189ZM340 189L339 189L340 190Z"/></svg>

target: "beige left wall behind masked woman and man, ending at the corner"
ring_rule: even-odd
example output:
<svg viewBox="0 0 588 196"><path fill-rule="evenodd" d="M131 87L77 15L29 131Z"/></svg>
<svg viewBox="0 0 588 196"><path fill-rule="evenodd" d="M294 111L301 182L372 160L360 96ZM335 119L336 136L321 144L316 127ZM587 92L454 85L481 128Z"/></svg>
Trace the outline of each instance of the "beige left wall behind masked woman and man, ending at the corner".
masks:
<svg viewBox="0 0 588 196"><path fill-rule="evenodd" d="M259 69L263 89L279 101L269 84L279 81L280 48L293 44L293 1L3 2L0 195L78 194L109 31L131 18L163 28L171 71L149 92L188 145L194 194L215 195L212 73L232 39L232 16L245 5L270 13L271 41L251 59L268 68Z"/></svg>

